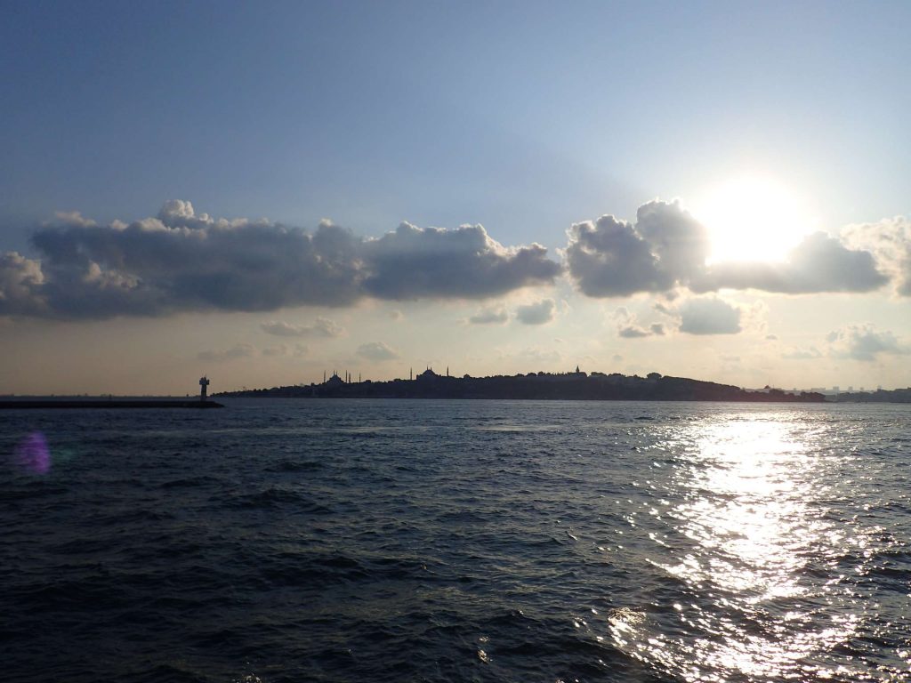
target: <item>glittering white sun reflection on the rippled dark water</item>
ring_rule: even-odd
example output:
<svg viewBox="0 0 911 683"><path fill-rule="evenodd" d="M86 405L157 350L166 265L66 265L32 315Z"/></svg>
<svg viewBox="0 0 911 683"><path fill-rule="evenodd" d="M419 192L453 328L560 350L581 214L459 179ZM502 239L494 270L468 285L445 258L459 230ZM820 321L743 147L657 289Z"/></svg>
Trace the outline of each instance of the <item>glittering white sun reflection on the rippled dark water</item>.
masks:
<svg viewBox="0 0 911 683"><path fill-rule="evenodd" d="M693 683L852 678L820 655L855 634L859 610L832 599L848 590L837 576L808 576L814 559L863 540L825 519L815 438L800 423L732 418L667 444L682 454L670 485L683 502L663 513L671 540L650 563L681 599L670 614L656 602L657 617L609 618L618 647Z"/></svg>

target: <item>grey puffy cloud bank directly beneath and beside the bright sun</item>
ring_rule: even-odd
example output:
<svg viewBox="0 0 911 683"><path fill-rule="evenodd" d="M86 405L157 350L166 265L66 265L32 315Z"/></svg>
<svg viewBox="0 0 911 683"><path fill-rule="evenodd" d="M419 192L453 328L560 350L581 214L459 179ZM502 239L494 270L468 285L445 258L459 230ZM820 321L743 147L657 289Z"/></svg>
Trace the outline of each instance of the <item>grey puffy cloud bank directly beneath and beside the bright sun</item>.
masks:
<svg viewBox="0 0 911 683"><path fill-rule="evenodd" d="M879 244L902 242L906 227L886 226ZM565 257L578 289L592 297L670 293L687 287L698 293L722 289L809 294L864 292L882 287L888 277L877 270L874 254L817 232L806 237L783 263L707 264L706 229L679 202L650 201L637 211L635 224L613 216L576 223L568 231ZM894 270L908 274L911 258ZM906 279L906 282L911 280ZM911 291L911 284L908 285Z"/></svg>

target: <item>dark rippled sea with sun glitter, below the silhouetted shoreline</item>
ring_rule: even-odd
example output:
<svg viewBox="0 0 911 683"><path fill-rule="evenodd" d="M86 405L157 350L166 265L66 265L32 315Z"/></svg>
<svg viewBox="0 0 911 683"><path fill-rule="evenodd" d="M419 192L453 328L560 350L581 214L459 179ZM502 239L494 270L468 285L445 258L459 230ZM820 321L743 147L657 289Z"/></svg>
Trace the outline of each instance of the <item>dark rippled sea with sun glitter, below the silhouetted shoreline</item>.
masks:
<svg viewBox="0 0 911 683"><path fill-rule="evenodd" d="M909 408L5 412L3 679L911 680Z"/></svg>

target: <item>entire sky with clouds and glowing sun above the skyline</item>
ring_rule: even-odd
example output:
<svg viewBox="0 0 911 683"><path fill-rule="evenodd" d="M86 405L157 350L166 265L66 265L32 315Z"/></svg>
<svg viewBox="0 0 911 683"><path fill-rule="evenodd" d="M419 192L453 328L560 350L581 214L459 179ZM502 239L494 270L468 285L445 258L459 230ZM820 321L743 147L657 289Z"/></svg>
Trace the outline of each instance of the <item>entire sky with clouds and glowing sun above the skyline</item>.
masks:
<svg viewBox="0 0 911 683"><path fill-rule="evenodd" d="M4 15L0 393L911 385L911 4Z"/></svg>

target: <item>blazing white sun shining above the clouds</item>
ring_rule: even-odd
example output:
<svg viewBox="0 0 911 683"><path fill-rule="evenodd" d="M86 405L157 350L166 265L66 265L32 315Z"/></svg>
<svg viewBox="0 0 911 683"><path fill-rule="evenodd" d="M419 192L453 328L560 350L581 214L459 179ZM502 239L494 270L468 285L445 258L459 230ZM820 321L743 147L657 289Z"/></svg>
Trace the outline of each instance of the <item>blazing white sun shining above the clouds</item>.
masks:
<svg viewBox="0 0 911 683"><path fill-rule="evenodd" d="M723 181L699 199L692 214L709 230L711 262L785 260L818 229L797 192L763 176Z"/></svg>

